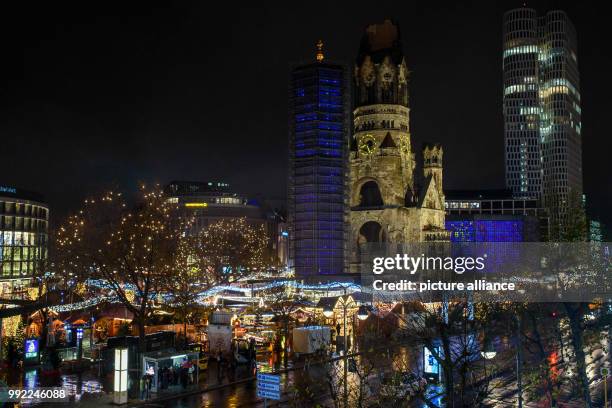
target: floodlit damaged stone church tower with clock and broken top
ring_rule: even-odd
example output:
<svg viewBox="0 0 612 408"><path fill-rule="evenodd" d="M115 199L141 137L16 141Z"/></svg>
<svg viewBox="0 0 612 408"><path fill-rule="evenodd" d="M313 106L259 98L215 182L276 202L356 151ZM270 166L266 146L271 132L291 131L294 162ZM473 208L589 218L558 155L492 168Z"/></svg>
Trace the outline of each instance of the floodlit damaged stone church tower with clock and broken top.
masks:
<svg viewBox="0 0 612 408"><path fill-rule="evenodd" d="M366 28L354 69L351 138L351 271L359 245L447 240L442 148L424 150L425 185L415 188L410 137L409 72L399 27L386 20Z"/></svg>

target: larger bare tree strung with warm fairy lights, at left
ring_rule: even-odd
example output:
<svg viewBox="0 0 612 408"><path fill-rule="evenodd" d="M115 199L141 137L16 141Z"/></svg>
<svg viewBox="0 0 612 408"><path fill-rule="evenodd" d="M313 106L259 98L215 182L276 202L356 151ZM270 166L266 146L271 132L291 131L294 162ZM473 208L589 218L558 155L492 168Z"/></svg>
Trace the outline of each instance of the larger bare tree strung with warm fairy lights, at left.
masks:
<svg viewBox="0 0 612 408"><path fill-rule="evenodd" d="M134 314L141 351L153 299L181 261L188 226L176 210L159 187L143 187L136 206L109 192L86 200L57 233L60 272L76 281L103 279Z"/></svg>

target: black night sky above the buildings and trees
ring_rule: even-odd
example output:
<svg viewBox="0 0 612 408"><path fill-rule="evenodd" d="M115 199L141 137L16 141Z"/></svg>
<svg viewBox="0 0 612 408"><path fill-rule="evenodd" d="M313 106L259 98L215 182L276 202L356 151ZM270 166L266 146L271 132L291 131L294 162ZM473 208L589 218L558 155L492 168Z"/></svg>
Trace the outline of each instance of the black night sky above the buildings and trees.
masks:
<svg viewBox="0 0 612 408"><path fill-rule="evenodd" d="M412 71L413 146L443 143L447 189L504 185L502 14L522 2L21 3L0 9L0 184L43 193L56 219L104 188L173 179L284 199L291 64L320 38L352 66L385 18ZM610 226L610 23L596 4L528 2L578 30L584 187Z"/></svg>

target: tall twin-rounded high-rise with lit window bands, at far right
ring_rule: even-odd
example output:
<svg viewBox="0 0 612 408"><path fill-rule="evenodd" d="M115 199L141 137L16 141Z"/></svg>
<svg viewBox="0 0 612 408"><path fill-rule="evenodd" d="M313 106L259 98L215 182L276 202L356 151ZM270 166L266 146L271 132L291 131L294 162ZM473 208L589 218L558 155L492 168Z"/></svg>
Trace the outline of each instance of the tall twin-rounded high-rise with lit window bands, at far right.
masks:
<svg viewBox="0 0 612 408"><path fill-rule="evenodd" d="M563 11L520 8L505 13L503 40L506 186L562 220L582 194L576 31Z"/></svg>

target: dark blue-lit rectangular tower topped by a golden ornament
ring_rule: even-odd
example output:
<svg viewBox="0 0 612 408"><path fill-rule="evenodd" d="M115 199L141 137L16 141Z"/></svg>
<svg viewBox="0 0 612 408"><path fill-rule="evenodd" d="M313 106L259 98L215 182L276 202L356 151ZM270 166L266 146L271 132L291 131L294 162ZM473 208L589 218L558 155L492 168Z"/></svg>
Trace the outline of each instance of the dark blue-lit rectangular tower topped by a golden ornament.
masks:
<svg viewBox="0 0 612 408"><path fill-rule="evenodd" d="M297 276L345 271L348 81L321 48L316 62L291 72L288 215Z"/></svg>

